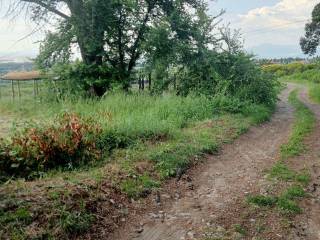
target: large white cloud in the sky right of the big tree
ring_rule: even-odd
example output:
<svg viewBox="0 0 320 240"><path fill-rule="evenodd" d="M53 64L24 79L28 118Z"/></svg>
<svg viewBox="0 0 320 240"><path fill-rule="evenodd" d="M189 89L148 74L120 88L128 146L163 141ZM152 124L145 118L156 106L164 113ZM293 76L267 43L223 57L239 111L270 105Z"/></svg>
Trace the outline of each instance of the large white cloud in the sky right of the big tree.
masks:
<svg viewBox="0 0 320 240"><path fill-rule="evenodd" d="M277 44L298 45L304 25L318 0L281 0L274 6L261 7L238 15L233 27L241 28L246 47Z"/></svg>

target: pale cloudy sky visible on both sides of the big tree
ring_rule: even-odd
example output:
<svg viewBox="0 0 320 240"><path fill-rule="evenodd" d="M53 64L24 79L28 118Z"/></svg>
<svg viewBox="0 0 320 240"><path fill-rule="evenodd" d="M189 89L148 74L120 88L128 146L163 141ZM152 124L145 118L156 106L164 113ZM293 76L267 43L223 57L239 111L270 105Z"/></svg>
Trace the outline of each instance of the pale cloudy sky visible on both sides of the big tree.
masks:
<svg viewBox="0 0 320 240"><path fill-rule="evenodd" d="M29 35L33 26L24 17L14 21L5 17L8 1L0 5L0 60L33 57L43 33ZM299 39L319 0L208 0L209 13L221 9L223 23L240 29L248 52L259 57L303 56ZM22 39L22 40L21 40Z"/></svg>

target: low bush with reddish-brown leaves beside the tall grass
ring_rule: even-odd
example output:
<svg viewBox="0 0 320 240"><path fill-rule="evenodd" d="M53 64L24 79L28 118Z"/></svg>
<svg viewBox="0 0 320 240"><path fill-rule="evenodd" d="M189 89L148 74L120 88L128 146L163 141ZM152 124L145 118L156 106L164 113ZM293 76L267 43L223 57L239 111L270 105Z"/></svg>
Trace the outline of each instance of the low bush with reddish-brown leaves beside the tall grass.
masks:
<svg viewBox="0 0 320 240"><path fill-rule="evenodd" d="M70 168L101 155L101 128L92 119L64 113L50 126L37 125L0 141L0 176L34 178L53 168ZM1 177L0 177L1 180Z"/></svg>

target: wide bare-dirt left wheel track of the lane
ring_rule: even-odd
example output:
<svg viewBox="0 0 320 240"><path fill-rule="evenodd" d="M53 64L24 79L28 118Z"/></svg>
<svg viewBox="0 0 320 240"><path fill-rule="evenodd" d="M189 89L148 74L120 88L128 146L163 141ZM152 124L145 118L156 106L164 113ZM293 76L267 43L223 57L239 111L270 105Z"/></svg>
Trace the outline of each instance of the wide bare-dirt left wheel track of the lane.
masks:
<svg viewBox="0 0 320 240"><path fill-rule="evenodd" d="M188 178L194 179L192 187L181 198L170 196L175 200L146 211L135 219L136 224L126 226L110 239L201 239L207 225L219 224L217 219L230 211L231 203L253 192L263 170L277 160L293 122L293 109L287 101L293 88L289 85L283 91L270 122L252 127L234 143L225 145L221 154L210 156L203 166L191 171ZM171 195L174 191L171 189ZM138 231L137 223L143 226Z"/></svg>

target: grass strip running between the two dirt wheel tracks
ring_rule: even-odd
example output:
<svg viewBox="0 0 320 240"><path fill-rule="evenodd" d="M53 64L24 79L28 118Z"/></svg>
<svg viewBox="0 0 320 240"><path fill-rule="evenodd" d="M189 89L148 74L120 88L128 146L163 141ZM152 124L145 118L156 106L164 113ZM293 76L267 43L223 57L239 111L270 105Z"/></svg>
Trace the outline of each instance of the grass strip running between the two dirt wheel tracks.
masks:
<svg viewBox="0 0 320 240"><path fill-rule="evenodd" d="M306 195L303 187L309 183L310 175L307 171L296 172L291 170L285 162L306 151L303 140L312 132L316 122L313 112L298 99L297 92L295 90L289 96L289 102L295 108L295 122L292 133L288 142L281 146L281 161L276 163L269 171L270 179L285 182L285 187L278 183L277 189L282 189L282 191L276 191L273 195L250 196L247 199L249 203L256 206L277 207L281 212L288 214L297 214L302 211L298 205L298 200Z"/></svg>

